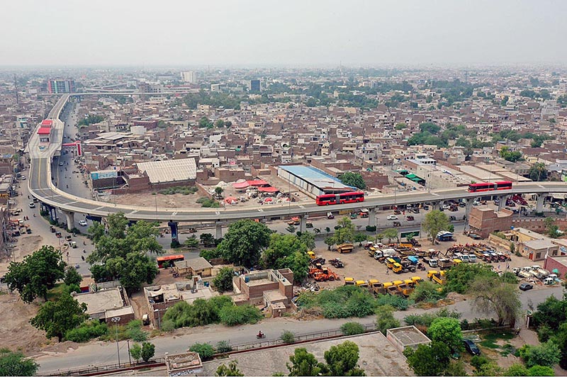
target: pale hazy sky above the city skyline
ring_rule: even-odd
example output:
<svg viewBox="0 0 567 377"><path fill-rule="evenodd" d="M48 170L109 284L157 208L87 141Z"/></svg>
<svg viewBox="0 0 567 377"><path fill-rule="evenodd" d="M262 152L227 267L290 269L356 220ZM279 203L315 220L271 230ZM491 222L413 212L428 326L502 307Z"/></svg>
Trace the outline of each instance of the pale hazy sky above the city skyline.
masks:
<svg viewBox="0 0 567 377"><path fill-rule="evenodd" d="M567 62L567 1L9 0L0 65Z"/></svg>

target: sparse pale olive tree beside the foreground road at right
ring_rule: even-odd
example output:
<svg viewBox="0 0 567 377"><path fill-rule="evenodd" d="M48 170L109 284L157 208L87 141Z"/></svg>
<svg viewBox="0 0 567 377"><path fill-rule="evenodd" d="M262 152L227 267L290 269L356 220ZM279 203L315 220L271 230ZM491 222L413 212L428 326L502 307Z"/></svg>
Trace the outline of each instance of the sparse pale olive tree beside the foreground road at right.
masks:
<svg viewBox="0 0 567 377"><path fill-rule="evenodd" d="M480 312L498 316L498 326L510 326L520 315L519 293L514 284L503 283L498 277L477 276L471 283L469 293L473 296L473 306Z"/></svg>

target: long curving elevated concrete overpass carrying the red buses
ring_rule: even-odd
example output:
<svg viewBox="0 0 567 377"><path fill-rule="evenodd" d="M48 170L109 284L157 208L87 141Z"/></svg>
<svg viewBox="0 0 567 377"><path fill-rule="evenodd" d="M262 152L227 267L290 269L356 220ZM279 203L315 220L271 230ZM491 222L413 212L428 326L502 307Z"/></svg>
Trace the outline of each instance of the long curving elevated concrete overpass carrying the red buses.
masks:
<svg viewBox="0 0 567 377"><path fill-rule="evenodd" d="M544 198L549 193L567 193L567 183L564 182L530 182L514 184L511 190L488 191L484 193L469 193L466 187L448 188L432 191L412 191L390 195L366 196L363 203L349 203L336 206L317 206L315 203L289 203L283 205L257 206L254 208L148 208L142 206L125 206L112 203L101 203L87 198L79 198L55 187L51 181L51 159L60 151L62 144L63 122L59 119L62 108L69 99L69 94L61 97L49 118L53 120L52 142L49 148L39 150L37 129L34 130L28 144L30 154L30 174L28 187L30 193L43 203L44 208L50 210L51 217L56 220L55 209L59 209L67 217L67 226L72 227L74 213L90 215L96 218L105 218L113 213L124 213L129 220L157 220L167 221L172 226L172 235L176 234L176 224L180 222L207 222L217 225L217 236L220 238L220 228L226 223L243 218L271 220L286 216L301 218L300 230L305 230L305 222L309 215L326 213L327 211L357 210L368 208L370 210L369 225L376 225L376 210L381 207L400 204L432 203L436 208L439 203L448 200L466 199L466 213L470 212L473 200L481 196L499 196L502 206L505 196L522 193L539 194L537 212L543 210ZM175 227L175 230L174 230Z"/></svg>

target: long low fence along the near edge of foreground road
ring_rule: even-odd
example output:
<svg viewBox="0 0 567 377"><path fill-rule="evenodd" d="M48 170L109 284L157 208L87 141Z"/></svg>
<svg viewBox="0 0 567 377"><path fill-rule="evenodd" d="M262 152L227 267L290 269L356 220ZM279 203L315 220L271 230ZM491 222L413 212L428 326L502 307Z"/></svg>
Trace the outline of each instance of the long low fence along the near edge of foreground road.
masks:
<svg viewBox="0 0 567 377"><path fill-rule="evenodd" d="M364 332L374 332L376 331L376 325L362 325L364 327ZM232 346L232 351L226 354L239 354L245 351L252 351L254 349L269 349L274 347L283 347L291 344L301 344L305 342L311 342L313 340L331 339L335 337L342 337L342 331L340 329L327 330L321 332L308 332L307 334L296 335L293 342L286 343L281 339L272 340L260 340L259 342L251 342L245 344L237 344ZM215 354L215 356L221 356L223 354ZM157 368L159 366L165 366L164 357L156 357L152 361L145 362L133 362L133 363L122 363L122 364L105 364L100 366L89 366L88 368L75 368L68 369L65 371L52 371L51 373L46 373L45 376L97 376L101 374L116 373L119 371L129 371L142 368Z"/></svg>

